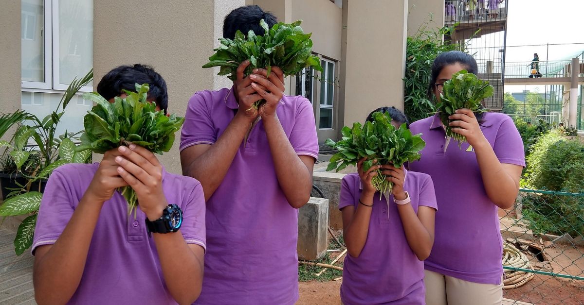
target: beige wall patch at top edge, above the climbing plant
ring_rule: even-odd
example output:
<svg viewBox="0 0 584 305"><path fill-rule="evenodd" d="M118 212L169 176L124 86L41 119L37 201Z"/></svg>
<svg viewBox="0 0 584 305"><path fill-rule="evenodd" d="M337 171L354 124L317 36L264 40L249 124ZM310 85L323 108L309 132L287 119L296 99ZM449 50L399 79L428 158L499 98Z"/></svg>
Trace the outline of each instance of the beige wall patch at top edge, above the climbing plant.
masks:
<svg viewBox="0 0 584 305"><path fill-rule="evenodd" d="M444 0L408 0L408 36L414 36L422 24L444 26Z"/></svg>

